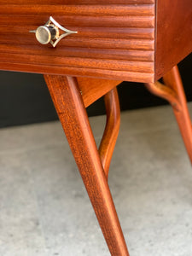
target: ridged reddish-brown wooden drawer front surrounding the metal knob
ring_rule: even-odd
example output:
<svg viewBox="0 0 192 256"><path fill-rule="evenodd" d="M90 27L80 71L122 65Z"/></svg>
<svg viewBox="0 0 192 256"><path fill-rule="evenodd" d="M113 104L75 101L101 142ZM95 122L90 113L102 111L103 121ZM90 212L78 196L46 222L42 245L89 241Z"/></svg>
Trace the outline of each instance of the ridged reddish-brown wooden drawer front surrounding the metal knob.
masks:
<svg viewBox="0 0 192 256"><path fill-rule="evenodd" d="M154 0L1 0L0 69L152 82L154 9ZM29 32L50 15L78 32L55 48Z"/></svg>

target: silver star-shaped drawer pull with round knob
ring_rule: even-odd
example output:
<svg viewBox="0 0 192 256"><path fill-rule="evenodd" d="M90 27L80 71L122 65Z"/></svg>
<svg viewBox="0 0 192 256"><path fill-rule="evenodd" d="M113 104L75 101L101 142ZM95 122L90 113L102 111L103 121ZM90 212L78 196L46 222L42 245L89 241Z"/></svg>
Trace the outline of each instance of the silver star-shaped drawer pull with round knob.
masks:
<svg viewBox="0 0 192 256"><path fill-rule="evenodd" d="M60 30L64 32L61 35ZM61 26L51 16L49 17L49 20L44 24L44 26L38 26L36 30L32 30L30 32L35 33L35 36L40 44L50 43L53 45L53 47L55 47L62 38L66 38L70 34L78 33Z"/></svg>

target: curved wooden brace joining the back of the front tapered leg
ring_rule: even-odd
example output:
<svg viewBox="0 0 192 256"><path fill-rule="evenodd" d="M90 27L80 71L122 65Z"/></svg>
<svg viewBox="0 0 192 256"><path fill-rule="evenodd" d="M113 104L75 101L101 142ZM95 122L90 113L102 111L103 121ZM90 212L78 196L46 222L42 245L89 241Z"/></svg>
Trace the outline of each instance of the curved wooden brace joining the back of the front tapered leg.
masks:
<svg viewBox="0 0 192 256"><path fill-rule="evenodd" d="M99 154L106 177L108 177L108 170L120 126L119 96L116 87L104 96L104 101L107 113L107 122L102 142L99 147Z"/></svg>

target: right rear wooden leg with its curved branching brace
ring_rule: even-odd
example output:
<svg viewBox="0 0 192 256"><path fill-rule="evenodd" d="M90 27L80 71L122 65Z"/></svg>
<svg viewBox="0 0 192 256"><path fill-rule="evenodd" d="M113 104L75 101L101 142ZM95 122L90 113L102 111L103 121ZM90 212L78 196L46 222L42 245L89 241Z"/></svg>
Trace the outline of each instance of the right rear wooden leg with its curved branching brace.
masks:
<svg viewBox="0 0 192 256"><path fill-rule="evenodd" d="M173 67L169 73L166 73L163 80L165 85L156 82L154 84L146 84L146 87L154 95L165 98L172 105L183 142L192 163L192 126L182 80L177 66Z"/></svg>

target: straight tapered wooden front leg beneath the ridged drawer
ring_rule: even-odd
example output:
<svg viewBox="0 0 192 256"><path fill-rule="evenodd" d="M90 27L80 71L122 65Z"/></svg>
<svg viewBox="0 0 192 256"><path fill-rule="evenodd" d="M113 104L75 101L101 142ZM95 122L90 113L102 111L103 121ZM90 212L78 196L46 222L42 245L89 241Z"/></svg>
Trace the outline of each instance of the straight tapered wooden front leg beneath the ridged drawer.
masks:
<svg viewBox="0 0 192 256"><path fill-rule="evenodd" d="M129 255L89 119L72 77L44 76L111 255Z"/></svg>

